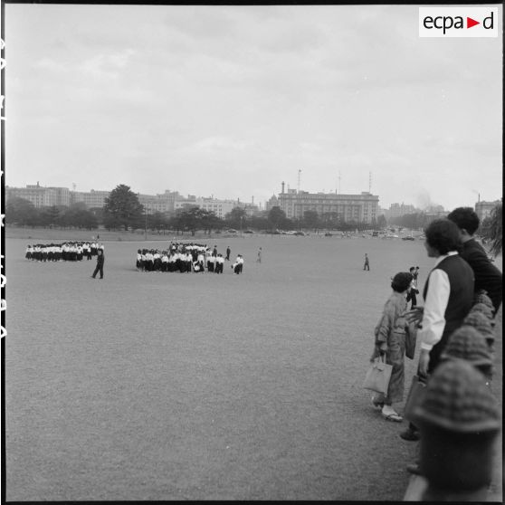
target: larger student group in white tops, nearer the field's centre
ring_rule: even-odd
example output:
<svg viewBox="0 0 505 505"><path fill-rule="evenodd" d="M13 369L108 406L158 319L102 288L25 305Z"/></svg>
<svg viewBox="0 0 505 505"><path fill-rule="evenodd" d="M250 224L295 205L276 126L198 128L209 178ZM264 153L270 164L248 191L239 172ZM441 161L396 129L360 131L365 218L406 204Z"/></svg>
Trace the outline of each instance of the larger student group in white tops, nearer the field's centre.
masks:
<svg viewBox="0 0 505 505"><path fill-rule="evenodd" d="M167 250L138 249L138 272L213 272L223 273L224 262L230 261L230 248L226 256L201 243L170 243ZM238 254L232 265L234 273L243 272L243 256Z"/></svg>

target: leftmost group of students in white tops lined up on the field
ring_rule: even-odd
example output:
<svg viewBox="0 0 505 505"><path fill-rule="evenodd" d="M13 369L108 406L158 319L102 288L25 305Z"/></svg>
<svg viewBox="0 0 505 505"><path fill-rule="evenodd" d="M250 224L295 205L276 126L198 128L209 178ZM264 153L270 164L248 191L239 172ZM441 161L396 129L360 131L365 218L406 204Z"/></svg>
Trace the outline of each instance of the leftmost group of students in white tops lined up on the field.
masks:
<svg viewBox="0 0 505 505"><path fill-rule="evenodd" d="M103 252L104 245L96 242L36 243L26 246L24 258L33 262L81 262Z"/></svg>

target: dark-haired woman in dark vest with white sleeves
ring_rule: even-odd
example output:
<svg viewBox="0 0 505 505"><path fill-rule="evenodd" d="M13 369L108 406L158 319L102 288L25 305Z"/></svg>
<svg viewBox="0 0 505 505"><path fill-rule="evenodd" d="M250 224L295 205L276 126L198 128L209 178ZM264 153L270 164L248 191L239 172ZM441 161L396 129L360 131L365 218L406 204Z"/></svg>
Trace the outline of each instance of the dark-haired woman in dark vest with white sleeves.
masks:
<svg viewBox="0 0 505 505"><path fill-rule="evenodd" d="M409 322L420 323L418 375L426 378L438 367L449 336L472 309L474 281L472 268L457 252L461 241L456 224L435 219L424 234L424 247L428 257L435 259L434 268L424 284L424 307L417 306L406 315ZM412 423L400 436L418 440Z"/></svg>

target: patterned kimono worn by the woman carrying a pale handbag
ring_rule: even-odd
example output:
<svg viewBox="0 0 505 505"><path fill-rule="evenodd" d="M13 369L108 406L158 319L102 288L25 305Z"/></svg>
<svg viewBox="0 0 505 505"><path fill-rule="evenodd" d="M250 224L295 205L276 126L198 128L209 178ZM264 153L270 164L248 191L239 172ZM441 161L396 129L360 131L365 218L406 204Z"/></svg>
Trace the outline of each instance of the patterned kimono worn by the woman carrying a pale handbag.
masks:
<svg viewBox="0 0 505 505"><path fill-rule="evenodd" d="M401 402L404 398L405 334L410 330L405 319L406 307L405 294L393 291L374 330L376 348L386 349L386 363L393 366L387 396L384 398L386 405ZM372 360L377 357L376 348Z"/></svg>

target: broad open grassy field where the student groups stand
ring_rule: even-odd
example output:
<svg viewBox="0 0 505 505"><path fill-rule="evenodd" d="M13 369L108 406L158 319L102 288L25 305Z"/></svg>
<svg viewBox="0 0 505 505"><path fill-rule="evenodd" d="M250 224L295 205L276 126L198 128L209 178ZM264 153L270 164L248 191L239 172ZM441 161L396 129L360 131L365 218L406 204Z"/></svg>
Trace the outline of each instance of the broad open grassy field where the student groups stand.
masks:
<svg viewBox="0 0 505 505"><path fill-rule="evenodd" d="M403 499L415 444L362 382L421 241L213 238L245 259L215 275L136 272L144 242L116 239L103 281L27 243L6 241L7 500Z"/></svg>

